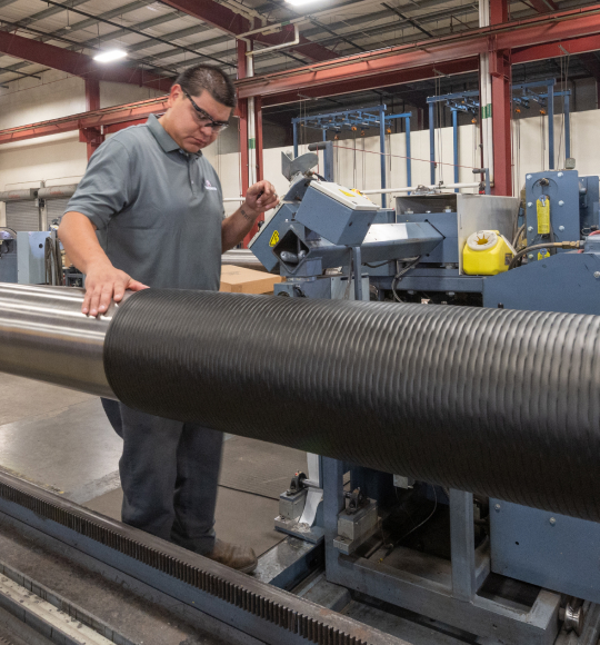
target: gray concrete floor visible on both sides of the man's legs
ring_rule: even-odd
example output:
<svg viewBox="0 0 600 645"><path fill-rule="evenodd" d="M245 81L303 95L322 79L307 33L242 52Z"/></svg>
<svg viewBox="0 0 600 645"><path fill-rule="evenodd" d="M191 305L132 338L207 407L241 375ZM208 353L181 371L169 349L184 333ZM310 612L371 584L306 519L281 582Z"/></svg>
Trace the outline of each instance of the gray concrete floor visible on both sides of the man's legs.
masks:
<svg viewBox="0 0 600 645"><path fill-rule="evenodd" d="M0 391L4 401L0 408L0 468L120 519L122 493L118 467L122 440L110 426L100 399L6 374L0 374ZM227 438L228 444L238 440ZM256 444L242 447L249 455L259 455L260 441ZM278 455L290 463L279 493L298 468L297 455L287 450L281 448ZM273 529L279 493L273 495L274 488L269 492L260 480L251 487L258 495L236 489L237 470L242 467L240 452L240 448L224 450L222 479L228 487L219 487L216 530L221 539L247 544L261 555L284 537ZM280 462L281 458L273 464L273 473L279 477ZM228 466L231 473L227 472ZM264 478L272 477L267 474ZM240 517L250 517L251 522L240 522Z"/></svg>

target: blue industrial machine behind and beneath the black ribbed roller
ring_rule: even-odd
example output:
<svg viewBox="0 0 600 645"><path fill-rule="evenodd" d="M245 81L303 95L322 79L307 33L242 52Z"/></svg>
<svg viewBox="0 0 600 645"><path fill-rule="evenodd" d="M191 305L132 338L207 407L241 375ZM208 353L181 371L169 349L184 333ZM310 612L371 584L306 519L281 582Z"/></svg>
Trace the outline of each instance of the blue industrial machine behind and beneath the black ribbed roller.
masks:
<svg viewBox="0 0 600 645"><path fill-rule="evenodd" d="M398 197L396 211L361 211L358 200L347 210L337 191L352 191L321 179L297 177L252 240L264 266L286 277L279 295L349 298L338 282L360 270L364 299L369 286L379 300L600 314L600 237L590 236L599 227L598 177L528 175L520 209L518 198L430 191ZM350 222L356 236L347 241ZM523 247L514 262L507 258L510 270L466 275L467 238L481 229ZM316 499L322 508L307 514ZM308 477L296 474L276 526L323 536L328 580L480 636L550 644L560 613L577 634L586 621L577 642L598 639L596 522L321 459ZM564 607L561 594L580 601Z"/></svg>

